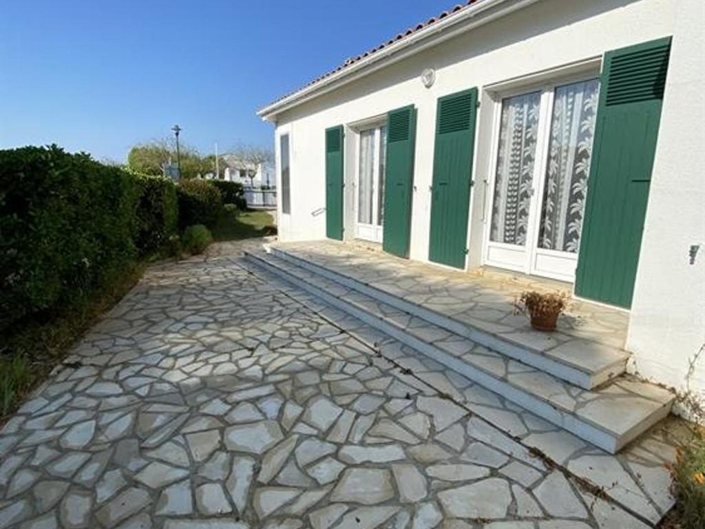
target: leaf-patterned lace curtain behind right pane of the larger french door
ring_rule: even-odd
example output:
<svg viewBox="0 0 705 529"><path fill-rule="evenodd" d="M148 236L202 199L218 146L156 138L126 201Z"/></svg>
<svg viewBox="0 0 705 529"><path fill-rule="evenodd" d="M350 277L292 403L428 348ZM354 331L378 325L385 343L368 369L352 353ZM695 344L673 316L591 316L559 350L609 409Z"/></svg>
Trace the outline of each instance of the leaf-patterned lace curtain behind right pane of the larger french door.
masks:
<svg viewBox="0 0 705 529"><path fill-rule="evenodd" d="M596 79L556 87L539 247L577 253L599 94Z"/></svg>

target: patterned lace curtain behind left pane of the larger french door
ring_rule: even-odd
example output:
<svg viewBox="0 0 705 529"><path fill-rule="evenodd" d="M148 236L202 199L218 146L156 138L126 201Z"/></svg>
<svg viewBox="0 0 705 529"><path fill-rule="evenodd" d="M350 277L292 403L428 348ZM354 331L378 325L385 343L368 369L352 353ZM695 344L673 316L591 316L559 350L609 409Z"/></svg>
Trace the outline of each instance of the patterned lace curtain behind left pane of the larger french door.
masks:
<svg viewBox="0 0 705 529"><path fill-rule="evenodd" d="M502 102L491 241L526 243L540 106L541 92Z"/></svg>

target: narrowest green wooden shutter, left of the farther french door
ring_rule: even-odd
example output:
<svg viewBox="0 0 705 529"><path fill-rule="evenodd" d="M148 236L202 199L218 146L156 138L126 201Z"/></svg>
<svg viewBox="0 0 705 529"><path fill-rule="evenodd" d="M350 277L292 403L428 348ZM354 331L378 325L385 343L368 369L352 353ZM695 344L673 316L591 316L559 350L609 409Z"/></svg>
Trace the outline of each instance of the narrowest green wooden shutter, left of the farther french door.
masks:
<svg viewBox="0 0 705 529"><path fill-rule="evenodd" d="M343 240L343 127L326 129L326 237Z"/></svg>

